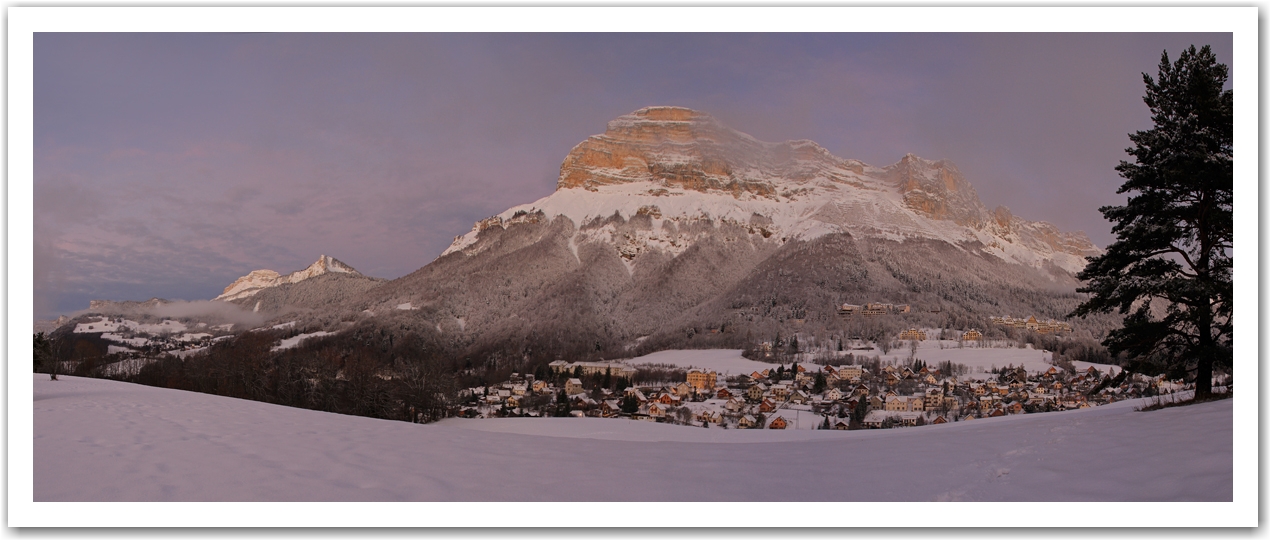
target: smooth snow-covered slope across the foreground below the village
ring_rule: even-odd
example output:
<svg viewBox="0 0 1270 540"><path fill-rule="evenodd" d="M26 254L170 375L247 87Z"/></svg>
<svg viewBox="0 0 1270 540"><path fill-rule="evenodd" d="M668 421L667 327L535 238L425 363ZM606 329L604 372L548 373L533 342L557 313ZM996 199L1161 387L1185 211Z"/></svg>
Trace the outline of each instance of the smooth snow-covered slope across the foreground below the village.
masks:
<svg viewBox="0 0 1270 540"><path fill-rule="evenodd" d="M867 432L420 426L36 375L34 501L1232 499L1231 400L1133 405Z"/></svg>

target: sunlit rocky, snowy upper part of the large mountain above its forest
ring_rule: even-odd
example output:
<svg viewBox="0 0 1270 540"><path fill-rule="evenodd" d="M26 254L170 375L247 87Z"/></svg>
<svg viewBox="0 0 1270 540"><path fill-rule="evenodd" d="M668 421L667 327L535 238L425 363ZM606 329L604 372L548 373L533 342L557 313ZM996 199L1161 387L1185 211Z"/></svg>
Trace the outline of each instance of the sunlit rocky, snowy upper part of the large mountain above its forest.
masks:
<svg viewBox="0 0 1270 540"><path fill-rule="evenodd" d="M646 216L635 234L613 215ZM641 255L674 257L711 221L735 224L780 243L826 234L888 240L931 239L1011 263L1068 273L1100 253L1083 233L1063 233L1005 207L988 211L950 161L912 154L885 168L829 154L812 141L762 142L709 114L649 107L622 116L575 146L560 166L555 193L479 221L444 252L475 255L481 231L565 216L577 231L570 249L612 244L629 268Z"/></svg>

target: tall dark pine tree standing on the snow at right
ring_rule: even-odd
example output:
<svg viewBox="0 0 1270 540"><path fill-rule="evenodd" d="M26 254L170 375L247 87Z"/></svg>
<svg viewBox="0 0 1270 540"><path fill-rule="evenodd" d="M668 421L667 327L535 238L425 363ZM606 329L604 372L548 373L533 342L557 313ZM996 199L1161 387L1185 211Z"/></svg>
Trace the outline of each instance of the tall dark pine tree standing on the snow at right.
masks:
<svg viewBox="0 0 1270 540"><path fill-rule="evenodd" d="M1171 376L1194 372L1203 399L1213 367L1232 356L1233 97L1208 46L1172 65L1166 51L1158 80L1142 76L1154 127L1129 135L1137 163L1116 166L1116 193L1130 196L1100 208L1116 240L1080 273L1090 299L1073 315L1118 310L1124 325L1107 349Z"/></svg>

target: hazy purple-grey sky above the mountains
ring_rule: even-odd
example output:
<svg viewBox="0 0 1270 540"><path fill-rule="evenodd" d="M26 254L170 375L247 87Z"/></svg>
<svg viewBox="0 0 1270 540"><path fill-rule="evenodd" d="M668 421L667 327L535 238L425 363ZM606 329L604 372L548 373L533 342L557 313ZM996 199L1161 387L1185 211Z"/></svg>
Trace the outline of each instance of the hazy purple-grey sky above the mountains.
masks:
<svg viewBox="0 0 1270 540"><path fill-rule="evenodd" d="M319 254L404 276L646 105L950 159L989 208L1106 245L1140 74L1191 43L1229 65L1231 34L36 34L36 316Z"/></svg>

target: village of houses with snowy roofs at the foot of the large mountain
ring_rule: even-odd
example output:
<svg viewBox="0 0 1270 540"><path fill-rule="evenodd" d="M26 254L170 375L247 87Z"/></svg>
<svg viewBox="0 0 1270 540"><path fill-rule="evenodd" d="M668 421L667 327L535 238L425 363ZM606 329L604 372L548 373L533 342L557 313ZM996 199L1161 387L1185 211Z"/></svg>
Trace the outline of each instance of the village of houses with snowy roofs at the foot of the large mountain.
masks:
<svg viewBox="0 0 1270 540"><path fill-rule="evenodd" d="M916 335L914 335L916 337ZM869 429L1082 409L1185 389L1115 366L993 368L942 362L787 363L747 375L687 368L682 380L631 384L624 362L556 361L538 376L461 391L460 415L629 418L725 429ZM954 375L963 374L963 376Z"/></svg>

